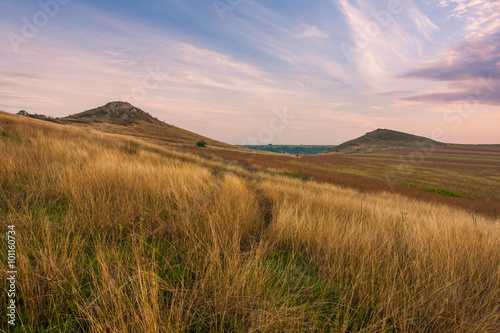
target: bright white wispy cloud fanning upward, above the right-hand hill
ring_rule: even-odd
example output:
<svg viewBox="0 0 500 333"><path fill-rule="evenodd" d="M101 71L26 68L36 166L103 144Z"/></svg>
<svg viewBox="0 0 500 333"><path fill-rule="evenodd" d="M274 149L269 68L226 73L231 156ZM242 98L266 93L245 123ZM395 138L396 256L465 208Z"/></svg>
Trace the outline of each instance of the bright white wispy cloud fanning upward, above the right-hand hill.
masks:
<svg viewBox="0 0 500 333"><path fill-rule="evenodd" d="M350 28L350 41L341 48L357 65L365 82L379 89L396 73L408 68L421 45L437 26L411 1L376 8L359 0L356 5L338 0Z"/></svg>

